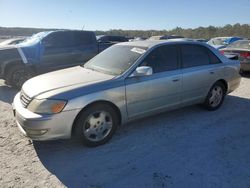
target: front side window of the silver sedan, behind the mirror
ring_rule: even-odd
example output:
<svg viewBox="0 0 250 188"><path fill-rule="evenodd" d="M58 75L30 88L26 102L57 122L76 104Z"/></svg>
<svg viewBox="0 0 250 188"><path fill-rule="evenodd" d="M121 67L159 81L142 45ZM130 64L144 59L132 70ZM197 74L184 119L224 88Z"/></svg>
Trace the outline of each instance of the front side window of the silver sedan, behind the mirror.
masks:
<svg viewBox="0 0 250 188"><path fill-rule="evenodd" d="M161 46L154 49L144 59L143 65L152 67L154 73L177 69L177 46Z"/></svg>

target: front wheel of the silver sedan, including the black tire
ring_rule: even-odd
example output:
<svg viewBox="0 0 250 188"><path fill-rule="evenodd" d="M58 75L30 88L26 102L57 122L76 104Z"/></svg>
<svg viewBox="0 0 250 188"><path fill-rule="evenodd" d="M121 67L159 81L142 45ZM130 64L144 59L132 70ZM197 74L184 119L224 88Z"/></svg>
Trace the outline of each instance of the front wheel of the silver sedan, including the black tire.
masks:
<svg viewBox="0 0 250 188"><path fill-rule="evenodd" d="M81 112L77 118L74 136L86 146L99 146L112 138L118 123L117 112L110 105L94 104Z"/></svg>

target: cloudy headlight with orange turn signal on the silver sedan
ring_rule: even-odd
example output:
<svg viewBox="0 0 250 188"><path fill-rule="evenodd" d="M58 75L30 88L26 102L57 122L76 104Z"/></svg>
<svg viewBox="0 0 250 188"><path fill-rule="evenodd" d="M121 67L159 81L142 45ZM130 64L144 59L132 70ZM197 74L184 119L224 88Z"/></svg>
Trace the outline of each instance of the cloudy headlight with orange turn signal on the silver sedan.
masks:
<svg viewBox="0 0 250 188"><path fill-rule="evenodd" d="M33 99L28 105L31 112L38 114L57 114L63 110L67 101L54 99Z"/></svg>

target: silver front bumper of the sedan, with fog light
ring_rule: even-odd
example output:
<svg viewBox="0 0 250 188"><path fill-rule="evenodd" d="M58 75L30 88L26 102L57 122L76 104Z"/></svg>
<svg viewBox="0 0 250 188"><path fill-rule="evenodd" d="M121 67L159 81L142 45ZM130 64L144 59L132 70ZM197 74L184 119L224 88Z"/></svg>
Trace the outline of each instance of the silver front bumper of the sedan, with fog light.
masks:
<svg viewBox="0 0 250 188"><path fill-rule="evenodd" d="M71 130L79 110L63 111L54 115L40 115L24 108L18 93L13 112L20 131L32 140L54 140L71 137Z"/></svg>

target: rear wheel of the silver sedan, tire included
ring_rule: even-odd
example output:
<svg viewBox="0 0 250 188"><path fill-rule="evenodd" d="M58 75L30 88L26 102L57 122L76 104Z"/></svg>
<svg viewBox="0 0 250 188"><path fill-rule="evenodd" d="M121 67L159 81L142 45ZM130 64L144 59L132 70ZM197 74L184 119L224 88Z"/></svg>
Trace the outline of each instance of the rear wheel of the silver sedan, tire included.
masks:
<svg viewBox="0 0 250 188"><path fill-rule="evenodd" d="M226 95L226 87L221 82L216 82L209 90L203 106L209 110L217 110L223 103Z"/></svg>

